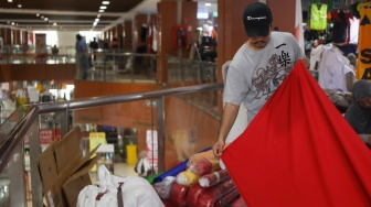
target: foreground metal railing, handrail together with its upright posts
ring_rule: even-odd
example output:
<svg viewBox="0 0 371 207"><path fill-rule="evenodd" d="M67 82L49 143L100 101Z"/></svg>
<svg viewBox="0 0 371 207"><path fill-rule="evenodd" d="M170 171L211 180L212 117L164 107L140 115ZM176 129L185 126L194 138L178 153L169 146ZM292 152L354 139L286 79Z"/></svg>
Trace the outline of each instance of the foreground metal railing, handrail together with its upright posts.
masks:
<svg viewBox="0 0 371 207"><path fill-rule="evenodd" d="M59 116L62 137L68 132L71 110L81 110L105 105L132 102L138 100L148 100L156 105L156 122L158 131L158 171L165 170L165 98L181 96L192 92L210 92L222 90L223 84L208 84L188 87L178 87L156 91L136 92L118 96L105 96L98 98L86 98L72 101L41 103L31 106L25 116L15 119L12 129L3 132L3 139L0 143L0 175L9 174L9 206L26 206L26 189L24 178L24 151L22 143L25 138L29 139L30 165L31 165L31 188L32 206L43 206L42 182L39 176L36 157L41 154L40 149L40 126L39 115L55 112ZM155 110L155 109L151 109ZM153 118L155 119L155 118ZM12 121L12 120L7 120ZM210 129L205 129L210 130ZM216 130L216 129L214 129ZM0 130L1 131L1 130ZM0 176L1 177L1 176ZM17 195L17 196L15 196ZM1 196L0 196L1 203ZM7 205L4 205L7 206Z"/></svg>

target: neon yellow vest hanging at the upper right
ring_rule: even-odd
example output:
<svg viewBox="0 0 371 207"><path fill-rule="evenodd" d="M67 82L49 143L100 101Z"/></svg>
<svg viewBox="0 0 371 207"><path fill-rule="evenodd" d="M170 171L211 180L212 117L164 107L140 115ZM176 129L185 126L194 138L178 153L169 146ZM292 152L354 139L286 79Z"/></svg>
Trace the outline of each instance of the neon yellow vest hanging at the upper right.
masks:
<svg viewBox="0 0 371 207"><path fill-rule="evenodd" d="M327 4L318 9L316 3L310 6L310 29L325 30L327 28Z"/></svg>

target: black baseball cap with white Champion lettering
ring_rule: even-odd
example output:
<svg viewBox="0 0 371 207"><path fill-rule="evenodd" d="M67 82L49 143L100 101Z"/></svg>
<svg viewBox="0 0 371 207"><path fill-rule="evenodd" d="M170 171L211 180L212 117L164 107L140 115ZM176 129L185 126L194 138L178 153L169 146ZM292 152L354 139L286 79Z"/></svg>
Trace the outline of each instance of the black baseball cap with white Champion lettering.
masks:
<svg viewBox="0 0 371 207"><path fill-rule="evenodd" d="M266 36L269 34L272 12L265 3L255 2L248 4L242 18L247 36Z"/></svg>

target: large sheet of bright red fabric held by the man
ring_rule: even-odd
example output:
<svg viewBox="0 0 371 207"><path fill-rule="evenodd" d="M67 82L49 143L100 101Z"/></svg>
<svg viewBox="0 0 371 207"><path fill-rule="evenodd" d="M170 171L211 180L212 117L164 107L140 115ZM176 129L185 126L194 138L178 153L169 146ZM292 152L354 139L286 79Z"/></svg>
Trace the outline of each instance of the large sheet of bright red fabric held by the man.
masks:
<svg viewBox="0 0 371 207"><path fill-rule="evenodd" d="M371 206L371 153L301 61L221 157L248 207Z"/></svg>

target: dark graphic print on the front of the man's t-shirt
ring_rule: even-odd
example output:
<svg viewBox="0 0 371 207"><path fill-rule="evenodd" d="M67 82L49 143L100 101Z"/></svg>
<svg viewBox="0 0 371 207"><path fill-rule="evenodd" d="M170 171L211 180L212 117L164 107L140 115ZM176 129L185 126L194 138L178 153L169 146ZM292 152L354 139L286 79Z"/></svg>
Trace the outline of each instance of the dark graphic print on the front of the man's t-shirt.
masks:
<svg viewBox="0 0 371 207"><path fill-rule="evenodd" d="M266 68L256 69L253 76L252 84L257 91L255 99L265 97L268 100L292 68L293 58L288 52L283 50L280 55L273 54Z"/></svg>

